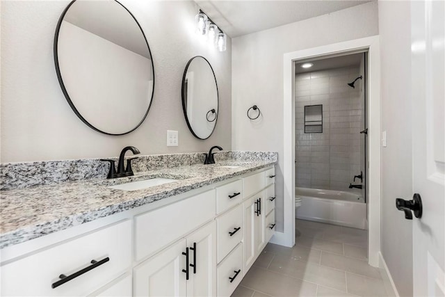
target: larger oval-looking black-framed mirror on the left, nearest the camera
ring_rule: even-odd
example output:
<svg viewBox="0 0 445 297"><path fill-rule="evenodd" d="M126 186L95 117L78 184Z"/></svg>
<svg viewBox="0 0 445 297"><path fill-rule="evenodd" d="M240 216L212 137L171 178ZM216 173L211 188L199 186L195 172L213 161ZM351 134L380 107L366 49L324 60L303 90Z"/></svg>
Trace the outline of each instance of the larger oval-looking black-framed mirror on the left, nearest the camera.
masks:
<svg viewBox="0 0 445 297"><path fill-rule="evenodd" d="M72 1L58 21L54 61L63 94L88 127L122 135L145 120L154 90L152 54L118 1Z"/></svg>

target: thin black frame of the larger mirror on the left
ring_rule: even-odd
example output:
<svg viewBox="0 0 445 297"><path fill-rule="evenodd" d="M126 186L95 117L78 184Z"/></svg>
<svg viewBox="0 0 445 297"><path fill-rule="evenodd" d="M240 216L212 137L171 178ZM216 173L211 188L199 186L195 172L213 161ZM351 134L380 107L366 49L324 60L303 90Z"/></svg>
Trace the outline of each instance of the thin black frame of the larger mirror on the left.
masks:
<svg viewBox="0 0 445 297"><path fill-rule="evenodd" d="M120 6L122 6L122 8L124 8L124 10L127 10L127 13L129 13L131 15L131 17L133 17L134 22L136 22L136 24L138 25L140 32L142 33L144 39L145 39L145 43L147 44L147 48L148 51L150 53L150 56L152 55L152 51L150 50L150 47L148 45L147 42L147 38L145 37L145 33L142 29L142 27L140 26L138 20L136 19L136 17L134 17L134 15L132 13L130 13L130 11L122 5L122 3L120 3L117 0L114 0L115 2L117 2ZM83 123L85 123L85 125L87 125L88 127L90 127L91 129L103 133L103 134L107 134L107 135L113 135L113 136L119 136L119 135L124 135L124 134L129 134L130 132L138 129L138 127L144 122L145 118L147 118L148 115L148 111L150 110L150 107L152 106L153 103L153 95L154 95L154 82L155 82L155 76L154 76L154 65L153 65L153 58L152 58L152 71L153 71L153 89L152 89L152 97L150 98L150 104L148 106L147 112L145 113L144 117L142 120L140 120L140 122L138 123L138 125L136 125L136 127L134 127L133 129L131 129L130 131L127 131L125 133L120 133L120 134L112 134L112 133L108 133L102 130L97 129L96 127L94 127L93 125L91 125L85 118L83 118L83 116L81 115L81 113L79 113L79 111L77 111L76 106L74 106L74 103L72 102L70 95L68 95L67 89L65 88L65 84L63 83L63 79L62 79L62 75L60 74L60 68L59 68L59 63L58 63L58 52L57 52L57 46L58 46L58 35L60 33L60 26L63 22L63 18L65 17L66 13L68 12L68 10L70 9L70 7L72 6L72 4L76 2L76 0L72 0L70 2L70 4L68 4L68 6L65 8L65 10L63 10L62 15L60 15L60 18L58 19L57 22L57 26L56 26L56 33L54 34L54 47L53 47L53 51L54 51L54 65L56 65L56 73L57 73L57 79L58 82L60 83L60 88L62 88L62 92L63 95L65 95L65 98L67 99L68 104L70 104L72 111L74 111L74 113L77 115L77 117L79 117L81 119L81 121Z"/></svg>

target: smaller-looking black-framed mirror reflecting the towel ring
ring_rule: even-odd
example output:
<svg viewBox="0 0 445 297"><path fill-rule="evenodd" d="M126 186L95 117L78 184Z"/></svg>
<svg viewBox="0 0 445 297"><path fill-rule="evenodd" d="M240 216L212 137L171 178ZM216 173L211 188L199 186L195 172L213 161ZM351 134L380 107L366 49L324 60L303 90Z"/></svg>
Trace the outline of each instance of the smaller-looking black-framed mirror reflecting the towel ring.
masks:
<svg viewBox="0 0 445 297"><path fill-rule="evenodd" d="M218 85L209 61L202 56L187 63L182 78L182 107L192 134L209 138L218 120Z"/></svg>

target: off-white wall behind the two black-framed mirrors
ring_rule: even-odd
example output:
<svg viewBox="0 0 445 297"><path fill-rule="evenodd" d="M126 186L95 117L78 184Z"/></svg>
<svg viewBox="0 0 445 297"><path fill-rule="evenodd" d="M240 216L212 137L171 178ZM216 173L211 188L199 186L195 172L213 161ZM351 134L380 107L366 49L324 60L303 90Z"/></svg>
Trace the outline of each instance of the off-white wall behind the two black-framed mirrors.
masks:
<svg viewBox="0 0 445 297"><path fill-rule="evenodd" d="M193 1L120 1L138 19L154 61L154 101L143 124L125 136L87 127L71 110L58 85L53 40L70 1L1 1L1 161L43 161L117 156L126 145L142 154L231 149L231 40L227 51L197 38ZM181 105L186 63L202 55L218 81L220 113L207 141L193 137ZM166 146L166 130L179 131L179 147Z"/></svg>

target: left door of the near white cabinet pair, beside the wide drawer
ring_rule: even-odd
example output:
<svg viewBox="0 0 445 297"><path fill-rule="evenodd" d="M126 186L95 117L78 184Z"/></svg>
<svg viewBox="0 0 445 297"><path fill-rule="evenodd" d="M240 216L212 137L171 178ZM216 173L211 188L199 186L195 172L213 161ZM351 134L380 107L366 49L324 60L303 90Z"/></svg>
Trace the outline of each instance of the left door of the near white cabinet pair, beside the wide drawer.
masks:
<svg viewBox="0 0 445 297"><path fill-rule="evenodd" d="M181 239L133 271L134 296L186 296L186 239Z"/></svg>

